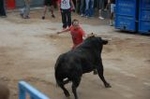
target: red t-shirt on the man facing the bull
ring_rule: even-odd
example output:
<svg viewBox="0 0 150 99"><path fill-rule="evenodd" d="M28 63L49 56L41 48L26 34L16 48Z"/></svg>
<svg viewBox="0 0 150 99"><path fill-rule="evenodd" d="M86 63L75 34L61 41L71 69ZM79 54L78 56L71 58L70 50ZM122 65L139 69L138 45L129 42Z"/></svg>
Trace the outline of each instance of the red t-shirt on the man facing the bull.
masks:
<svg viewBox="0 0 150 99"><path fill-rule="evenodd" d="M70 33L72 36L73 41L73 49L83 42L83 36L85 35L85 32L83 29L79 26L78 28L74 28L73 26L70 27Z"/></svg>

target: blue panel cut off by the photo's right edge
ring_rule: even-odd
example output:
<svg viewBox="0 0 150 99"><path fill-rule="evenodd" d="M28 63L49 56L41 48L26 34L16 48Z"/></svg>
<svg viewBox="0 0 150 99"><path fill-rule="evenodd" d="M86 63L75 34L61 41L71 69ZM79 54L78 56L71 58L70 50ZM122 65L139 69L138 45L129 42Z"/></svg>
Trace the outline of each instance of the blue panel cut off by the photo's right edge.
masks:
<svg viewBox="0 0 150 99"><path fill-rule="evenodd" d="M139 2L138 31L150 34L150 0L140 0Z"/></svg>

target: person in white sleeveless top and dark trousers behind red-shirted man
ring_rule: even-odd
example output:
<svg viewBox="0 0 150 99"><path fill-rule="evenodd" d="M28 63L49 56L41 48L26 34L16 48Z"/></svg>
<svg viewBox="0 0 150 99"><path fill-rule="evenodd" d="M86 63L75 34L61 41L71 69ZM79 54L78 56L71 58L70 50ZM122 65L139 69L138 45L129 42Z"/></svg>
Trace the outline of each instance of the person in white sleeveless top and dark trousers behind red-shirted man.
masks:
<svg viewBox="0 0 150 99"><path fill-rule="evenodd" d="M58 0L58 7L62 16L63 29L71 26L71 11L75 10L72 0Z"/></svg>

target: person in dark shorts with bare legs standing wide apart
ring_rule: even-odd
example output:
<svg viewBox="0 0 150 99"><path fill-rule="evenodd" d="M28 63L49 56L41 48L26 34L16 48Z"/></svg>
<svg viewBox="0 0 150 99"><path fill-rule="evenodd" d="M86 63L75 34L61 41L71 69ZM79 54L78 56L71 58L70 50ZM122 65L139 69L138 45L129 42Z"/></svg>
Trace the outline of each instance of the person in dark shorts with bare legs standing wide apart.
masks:
<svg viewBox="0 0 150 99"><path fill-rule="evenodd" d="M43 12L43 16L42 19L45 19L45 14L47 11L47 8L49 7L49 11L51 12L51 17L55 18L54 15L54 0L44 0L44 12Z"/></svg>

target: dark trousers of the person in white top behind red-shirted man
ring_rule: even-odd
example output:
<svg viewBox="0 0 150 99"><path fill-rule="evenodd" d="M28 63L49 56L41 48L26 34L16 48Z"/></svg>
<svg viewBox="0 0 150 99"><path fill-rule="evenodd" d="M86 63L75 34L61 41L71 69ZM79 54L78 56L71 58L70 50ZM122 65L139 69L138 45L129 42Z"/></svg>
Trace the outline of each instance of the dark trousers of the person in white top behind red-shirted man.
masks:
<svg viewBox="0 0 150 99"><path fill-rule="evenodd" d="M67 28L67 26L71 26L71 10L62 10L61 9L61 16L62 16L62 23L63 28Z"/></svg>

